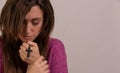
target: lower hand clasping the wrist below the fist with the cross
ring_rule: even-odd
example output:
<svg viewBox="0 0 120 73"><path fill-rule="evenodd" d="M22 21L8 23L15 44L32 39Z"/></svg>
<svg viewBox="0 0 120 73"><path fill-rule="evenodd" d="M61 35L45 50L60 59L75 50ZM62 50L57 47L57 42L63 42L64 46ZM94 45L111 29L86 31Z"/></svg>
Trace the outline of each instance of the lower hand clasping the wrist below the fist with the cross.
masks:
<svg viewBox="0 0 120 73"><path fill-rule="evenodd" d="M40 56L34 63L28 64L26 73L50 73L50 70L47 61Z"/></svg>

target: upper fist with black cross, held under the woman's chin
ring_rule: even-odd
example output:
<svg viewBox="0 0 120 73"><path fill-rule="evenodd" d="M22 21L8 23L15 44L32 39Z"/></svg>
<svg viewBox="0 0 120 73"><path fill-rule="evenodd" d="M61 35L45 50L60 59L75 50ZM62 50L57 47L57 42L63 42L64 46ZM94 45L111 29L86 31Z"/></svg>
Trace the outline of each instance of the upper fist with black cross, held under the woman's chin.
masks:
<svg viewBox="0 0 120 73"><path fill-rule="evenodd" d="M29 46L32 52L30 52L30 56L27 57L26 50L28 49ZM38 57L40 57L38 45L31 41L22 43L19 49L19 53L20 53L21 59L28 64L32 64L34 61L36 61Z"/></svg>

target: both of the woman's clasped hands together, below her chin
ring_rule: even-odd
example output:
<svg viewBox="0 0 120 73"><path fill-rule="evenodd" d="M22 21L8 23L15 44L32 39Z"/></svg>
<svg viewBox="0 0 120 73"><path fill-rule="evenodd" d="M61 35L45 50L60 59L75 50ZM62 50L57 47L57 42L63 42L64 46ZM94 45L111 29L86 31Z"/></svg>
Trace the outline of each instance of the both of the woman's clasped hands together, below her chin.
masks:
<svg viewBox="0 0 120 73"><path fill-rule="evenodd" d="M30 46L32 52L27 57L26 49ZM40 55L39 47L35 42L23 42L19 49L21 59L28 63L26 73L49 73L47 61Z"/></svg>

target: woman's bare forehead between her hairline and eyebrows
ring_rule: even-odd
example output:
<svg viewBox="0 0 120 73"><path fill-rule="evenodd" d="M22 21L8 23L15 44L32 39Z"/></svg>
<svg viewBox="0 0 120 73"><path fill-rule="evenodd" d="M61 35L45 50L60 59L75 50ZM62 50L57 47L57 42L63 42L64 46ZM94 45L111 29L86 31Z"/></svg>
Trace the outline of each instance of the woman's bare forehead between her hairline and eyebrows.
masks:
<svg viewBox="0 0 120 73"><path fill-rule="evenodd" d="M30 11L26 14L25 19L31 20L33 18L42 18L43 11L39 6L33 6Z"/></svg>

